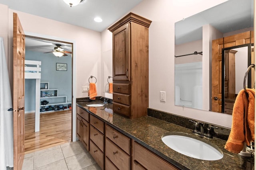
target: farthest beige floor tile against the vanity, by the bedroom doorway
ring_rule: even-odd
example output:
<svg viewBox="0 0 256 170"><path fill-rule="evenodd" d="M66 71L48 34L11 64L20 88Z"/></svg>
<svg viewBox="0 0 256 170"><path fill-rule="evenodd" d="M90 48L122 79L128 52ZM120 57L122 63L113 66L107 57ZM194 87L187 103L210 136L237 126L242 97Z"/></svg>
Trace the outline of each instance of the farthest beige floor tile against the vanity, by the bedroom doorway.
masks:
<svg viewBox="0 0 256 170"><path fill-rule="evenodd" d="M82 146L82 143L78 143L78 142L61 147L61 149L62 149L64 158L68 158L70 156L73 156L85 151L84 147Z"/></svg>

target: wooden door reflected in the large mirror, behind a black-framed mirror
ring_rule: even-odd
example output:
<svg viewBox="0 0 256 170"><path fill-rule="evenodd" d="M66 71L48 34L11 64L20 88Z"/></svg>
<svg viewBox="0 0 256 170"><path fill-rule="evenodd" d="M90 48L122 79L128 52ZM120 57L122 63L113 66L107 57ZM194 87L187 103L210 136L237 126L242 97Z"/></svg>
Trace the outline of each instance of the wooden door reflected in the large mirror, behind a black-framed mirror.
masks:
<svg viewBox="0 0 256 170"><path fill-rule="evenodd" d="M212 111L222 112L222 49L253 43L252 36L253 31L247 31L212 40Z"/></svg>

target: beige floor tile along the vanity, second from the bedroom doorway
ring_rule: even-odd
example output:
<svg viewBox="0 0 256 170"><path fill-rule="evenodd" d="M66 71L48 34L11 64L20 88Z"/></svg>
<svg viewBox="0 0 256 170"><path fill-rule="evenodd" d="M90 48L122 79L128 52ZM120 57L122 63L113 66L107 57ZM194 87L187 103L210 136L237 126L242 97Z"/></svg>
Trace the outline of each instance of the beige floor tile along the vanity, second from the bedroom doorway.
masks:
<svg viewBox="0 0 256 170"><path fill-rule="evenodd" d="M65 158L65 160L69 170L81 170L96 163L89 152L82 152Z"/></svg>

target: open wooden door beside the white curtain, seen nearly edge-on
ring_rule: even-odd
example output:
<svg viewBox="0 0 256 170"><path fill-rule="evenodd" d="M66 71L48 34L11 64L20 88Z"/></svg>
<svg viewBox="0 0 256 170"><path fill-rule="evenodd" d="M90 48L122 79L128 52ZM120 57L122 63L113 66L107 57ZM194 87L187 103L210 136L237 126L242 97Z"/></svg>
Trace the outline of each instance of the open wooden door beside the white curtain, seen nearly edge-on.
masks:
<svg viewBox="0 0 256 170"><path fill-rule="evenodd" d="M13 13L13 143L14 170L21 170L24 159L24 61L25 35L16 13Z"/></svg>

